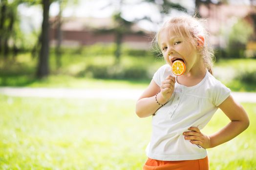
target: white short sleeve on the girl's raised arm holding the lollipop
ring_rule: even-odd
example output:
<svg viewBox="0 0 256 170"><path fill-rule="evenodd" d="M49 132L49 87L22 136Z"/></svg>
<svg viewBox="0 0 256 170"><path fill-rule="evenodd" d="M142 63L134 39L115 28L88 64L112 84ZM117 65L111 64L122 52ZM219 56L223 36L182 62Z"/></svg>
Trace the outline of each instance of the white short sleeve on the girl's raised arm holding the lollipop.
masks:
<svg viewBox="0 0 256 170"><path fill-rule="evenodd" d="M162 67L160 67L153 75L153 81L160 87L161 86L161 83L163 80L165 80L165 78L168 76L168 75L172 75L172 72L171 72L171 67L166 64L166 65L163 65Z"/></svg>

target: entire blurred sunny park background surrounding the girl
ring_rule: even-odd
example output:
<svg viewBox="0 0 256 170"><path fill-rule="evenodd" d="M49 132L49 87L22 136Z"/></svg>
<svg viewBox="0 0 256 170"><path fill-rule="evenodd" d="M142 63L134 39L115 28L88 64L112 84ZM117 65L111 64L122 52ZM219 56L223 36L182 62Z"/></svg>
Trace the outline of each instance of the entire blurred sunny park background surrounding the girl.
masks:
<svg viewBox="0 0 256 170"><path fill-rule="evenodd" d="M256 170L256 0L0 0L0 169L141 170L135 103L165 64L154 34L180 15L206 19L213 75L248 99L251 126L208 150L211 168Z"/></svg>

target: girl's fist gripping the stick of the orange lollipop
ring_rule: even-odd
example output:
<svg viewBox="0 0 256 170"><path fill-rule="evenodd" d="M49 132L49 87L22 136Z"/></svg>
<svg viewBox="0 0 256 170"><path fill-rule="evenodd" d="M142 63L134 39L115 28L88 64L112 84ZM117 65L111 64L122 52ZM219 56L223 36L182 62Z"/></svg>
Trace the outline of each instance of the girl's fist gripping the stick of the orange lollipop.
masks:
<svg viewBox="0 0 256 170"><path fill-rule="evenodd" d="M171 75L167 76L166 79L162 82L160 87L161 92L159 95L159 102L166 103L171 98L171 95L174 91L175 78Z"/></svg>

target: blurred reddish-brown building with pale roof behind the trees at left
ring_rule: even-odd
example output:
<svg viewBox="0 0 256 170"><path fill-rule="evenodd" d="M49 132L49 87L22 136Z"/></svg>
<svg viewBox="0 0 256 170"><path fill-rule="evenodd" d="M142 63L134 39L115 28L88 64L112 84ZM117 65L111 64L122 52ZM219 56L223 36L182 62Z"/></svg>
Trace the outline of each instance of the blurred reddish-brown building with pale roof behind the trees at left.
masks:
<svg viewBox="0 0 256 170"><path fill-rule="evenodd" d="M56 18L51 18L50 29L51 44L56 44ZM95 30L111 29L114 23L111 18L64 18L62 24L62 44L64 46L83 46L95 43L112 43L115 41L113 33L100 33ZM132 33L125 34L123 42L128 46L137 49L149 49L152 41L152 33L143 30L134 24L131 27Z"/></svg>

